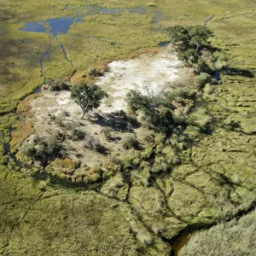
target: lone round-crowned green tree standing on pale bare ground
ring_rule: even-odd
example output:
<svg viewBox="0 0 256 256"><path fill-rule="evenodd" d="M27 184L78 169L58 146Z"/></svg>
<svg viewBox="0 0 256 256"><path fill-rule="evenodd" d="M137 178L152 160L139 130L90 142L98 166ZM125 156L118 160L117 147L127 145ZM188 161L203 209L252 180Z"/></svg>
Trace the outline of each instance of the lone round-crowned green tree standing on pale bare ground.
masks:
<svg viewBox="0 0 256 256"><path fill-rule="evenodd" d="M108 97L108 94L96 84L78 84L73 86L71 97L82 109L83 119L85 113L99 108L102 104L102 99Z"/></svg>

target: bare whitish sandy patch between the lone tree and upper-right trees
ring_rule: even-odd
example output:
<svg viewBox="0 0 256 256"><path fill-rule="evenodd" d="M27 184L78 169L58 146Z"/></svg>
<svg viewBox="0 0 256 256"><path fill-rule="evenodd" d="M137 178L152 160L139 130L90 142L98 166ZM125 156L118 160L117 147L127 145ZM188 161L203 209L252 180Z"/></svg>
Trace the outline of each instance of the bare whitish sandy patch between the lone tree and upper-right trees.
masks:
<svg viewBox="0 0 256 256"><path fill-rule="evenodd" d="M144 95L150 90L157 95L162 90L172 90L172 86L186 84L189 77L189 69L183 67L170 47L129 61L113 61L108 66L110 73L96 82L109 94L99 108L107 113L126 110L125 96L130 90L139 90Z"/></svg>

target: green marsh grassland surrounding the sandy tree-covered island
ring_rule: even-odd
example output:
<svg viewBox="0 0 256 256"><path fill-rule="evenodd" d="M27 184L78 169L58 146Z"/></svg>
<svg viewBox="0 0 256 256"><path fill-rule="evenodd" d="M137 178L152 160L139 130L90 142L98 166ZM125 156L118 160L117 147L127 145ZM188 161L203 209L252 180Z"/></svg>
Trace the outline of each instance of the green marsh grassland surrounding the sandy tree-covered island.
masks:
<svg viewBox="0 0 256 256"><path fill-rule="evenodd" d="M72 8L66 9L67 4ZM51 61L44 62L45 77L66 78L97 61L157 46L168 39L161 32L165 26L204 24L215 15L207 24L214 33L212 44L224 50L233 72L222 74L221 84L201 92L207 111L199 109L194 119L199 125L214 120L212 133L199 136L190 127L187 132L196 134L196 141L183 153L183 165L161 175L150 187L143 185L149 177L147 168L140 173L134 170L132 187L122 196L126 201L108 193L113 180L103 184L101 191L82 192L13 173L14 163L2 165L3 255L168 255L170 248L164 241L184 228L233 218L249 211L256 201L256 79L248 75L255 73L256 64L254 1L91 1L104 8L145 6L143 15L127 11L88 15L86 4L1 1L0 127L6 135L9 125L17 126L15 108L20 98L44 83L39 60L49 49L49 35L20 32L26 22L76 16L78 9L84 15L84 22L57 36L71 62L64 59L55 38ZM158 23L154 11L162 13Z"/></svg>

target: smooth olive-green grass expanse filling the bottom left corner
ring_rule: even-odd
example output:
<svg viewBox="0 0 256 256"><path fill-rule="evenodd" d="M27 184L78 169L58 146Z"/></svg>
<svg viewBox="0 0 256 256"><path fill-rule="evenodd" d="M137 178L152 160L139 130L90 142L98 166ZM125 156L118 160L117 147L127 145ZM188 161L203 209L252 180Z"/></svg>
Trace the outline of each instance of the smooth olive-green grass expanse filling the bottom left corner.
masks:
<svg viewBox="0 0 256 256"><path fill-rule="evenodd" d="M52 188L0 168L0 253L3 255L168 255L124 203L93 191ZM129 230L151 236L153 248ZM95 232L95 229L97 230ZM139 235L138 235L139 236ZM98 242L97 242L98 241ZM151 252L151 253L149 253Z"/></svg>

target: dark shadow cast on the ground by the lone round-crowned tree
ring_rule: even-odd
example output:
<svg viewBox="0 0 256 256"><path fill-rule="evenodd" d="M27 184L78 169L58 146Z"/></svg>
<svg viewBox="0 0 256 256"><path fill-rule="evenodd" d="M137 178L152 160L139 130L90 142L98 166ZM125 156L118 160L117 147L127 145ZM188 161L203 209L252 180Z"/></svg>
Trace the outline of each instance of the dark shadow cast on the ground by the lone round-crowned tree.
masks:
<svg viewBox="0 0 256 256"><path fill-rule="evenodd" d="M137 119L128 116L124 111L106 113L104 116L97 114L97 125L111 127L114 131L132 132L140 127Z"/></svg>

